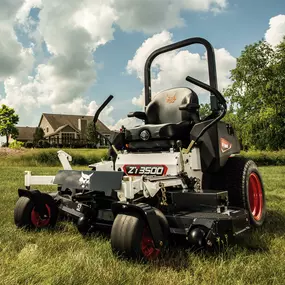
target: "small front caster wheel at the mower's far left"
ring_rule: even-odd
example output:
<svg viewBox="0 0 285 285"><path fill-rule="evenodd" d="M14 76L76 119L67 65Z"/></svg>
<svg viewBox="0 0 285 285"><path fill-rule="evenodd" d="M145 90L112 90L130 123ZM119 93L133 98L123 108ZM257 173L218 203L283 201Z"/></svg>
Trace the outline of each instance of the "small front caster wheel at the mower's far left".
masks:
<svg viewBox="0 0 285 285"><path fill-rule="evenodd" d="M57 221L58 208L53 198L42 193L42 201L48 210L48 217L41 220L38 212L35 210L34 202L28 197L20 197L14 209L14 222L18 228L46 228L54 227Z"/></svg>

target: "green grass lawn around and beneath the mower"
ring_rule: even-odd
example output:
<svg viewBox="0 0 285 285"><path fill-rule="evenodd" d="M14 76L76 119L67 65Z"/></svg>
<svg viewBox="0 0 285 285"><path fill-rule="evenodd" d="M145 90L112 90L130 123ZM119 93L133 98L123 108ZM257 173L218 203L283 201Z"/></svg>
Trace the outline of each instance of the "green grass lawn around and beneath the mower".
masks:
<svg viewBox="0 0 285 285"><path fill-rule="evenodd" d="M285 166L260 167L268 202L262 229L220 253L171 248L148 264L117 259L108 237L84 239L70 223L52 231L16 229L13 210L24 170L52 175L58 169L0 162L0 284L284 284Z"/></svg>

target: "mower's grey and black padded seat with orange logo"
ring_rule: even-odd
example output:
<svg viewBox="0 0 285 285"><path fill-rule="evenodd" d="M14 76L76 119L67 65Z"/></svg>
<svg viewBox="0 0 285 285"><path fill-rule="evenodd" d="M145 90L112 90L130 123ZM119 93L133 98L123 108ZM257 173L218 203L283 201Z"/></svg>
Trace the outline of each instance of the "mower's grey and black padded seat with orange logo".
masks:
<svg viewBox="0 0 285 285"><path fill-rule="evenodd" d="M179 108L183 106L184 109ZM132 147L146 148L158 145L158 140L189 140L190 131L199 119L199 100L190 88L173 88L158 93L148 104L146 112L135 112L133 116L144 119L146 124L126 130L126 141ZM129 115L129 116L132 116ZM137 142L137 143L136 143Z"/></svg>

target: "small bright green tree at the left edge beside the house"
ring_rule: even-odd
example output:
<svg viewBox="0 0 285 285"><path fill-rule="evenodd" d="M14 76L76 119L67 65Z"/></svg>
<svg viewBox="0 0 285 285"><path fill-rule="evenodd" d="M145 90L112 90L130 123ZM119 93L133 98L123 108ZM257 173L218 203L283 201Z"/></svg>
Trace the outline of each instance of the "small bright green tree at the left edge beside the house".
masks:
<svg viewBox="0 0 285 285"><path fill-rule="evenodd" d="M15 114L13 108L2 104L0 108L0 135L6 137L6 145L9 145L9 136L13 139L19 134L16 124L19 122L19 116Z"/></svg>

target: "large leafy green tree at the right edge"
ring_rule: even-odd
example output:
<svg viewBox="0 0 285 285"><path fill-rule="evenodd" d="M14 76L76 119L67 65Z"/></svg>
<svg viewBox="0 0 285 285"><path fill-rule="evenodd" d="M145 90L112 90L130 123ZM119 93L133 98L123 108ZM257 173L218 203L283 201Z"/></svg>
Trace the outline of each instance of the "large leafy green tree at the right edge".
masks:
<svg viewBox="0 0 285 285"><path fill-rule="evenodd" d="M231 71L233 85L225 121L233 124L245 148L285 148L285 39L246 46Z"/></svg>

